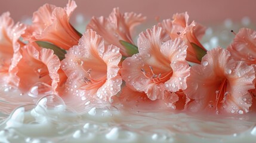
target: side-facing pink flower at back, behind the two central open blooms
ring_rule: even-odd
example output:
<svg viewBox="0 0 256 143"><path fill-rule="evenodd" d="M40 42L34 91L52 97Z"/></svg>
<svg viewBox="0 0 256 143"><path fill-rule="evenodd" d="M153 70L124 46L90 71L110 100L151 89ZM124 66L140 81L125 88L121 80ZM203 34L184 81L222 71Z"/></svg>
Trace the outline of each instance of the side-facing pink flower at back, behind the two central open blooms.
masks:
<svg viewBox="0 0 256 143"><path fill-rule="evenodd" d="M120 52L125 57L132 54L121 45L119 40L126 41L133 44L131 33L134 27L145 20L141 14L135 13L120 13L119 8L114 8L108 18L92 17L87 29L92 29L103 36L105 45L113 44L120 47Z"/></svg>

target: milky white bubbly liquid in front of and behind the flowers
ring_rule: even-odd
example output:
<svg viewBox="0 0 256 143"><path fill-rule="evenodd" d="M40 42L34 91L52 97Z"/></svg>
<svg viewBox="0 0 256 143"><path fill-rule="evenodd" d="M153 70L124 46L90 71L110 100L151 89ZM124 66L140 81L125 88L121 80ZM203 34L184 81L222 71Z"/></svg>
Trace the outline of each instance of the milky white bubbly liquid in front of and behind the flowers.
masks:
<svg viewBox="0 0 256 143"><path fill-rule="evenodd" d="M229 20L224 27L217 36L208 29L203 45L229 45L230 29L238 29ZM255 113L195 114L82 100L1 89L0 142L256 142Z"/></svg>

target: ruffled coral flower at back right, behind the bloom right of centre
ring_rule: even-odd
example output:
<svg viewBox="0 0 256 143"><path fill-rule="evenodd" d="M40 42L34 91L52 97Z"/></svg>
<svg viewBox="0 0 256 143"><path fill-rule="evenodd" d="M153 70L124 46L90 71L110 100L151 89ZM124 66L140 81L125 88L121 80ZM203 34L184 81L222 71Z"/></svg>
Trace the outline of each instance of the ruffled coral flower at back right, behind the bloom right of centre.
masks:
<svg viewBox="0 0 256 143"><path fill-rule="evenodd" d="M189 15L187 13L174 14L173 20L167 19L163 20L162 23L159 23L159 26L163 27L166 30L171 39L182 38L183 41L188 45L187 48L187 61L192 61L194 63L201 63L201 61L196 56L198 53L195 51L191 43L195 43L203 51L206 51L205 48L201 45L198 39L201 39L205 33L205 27L200 24L189 23Z"/></svg>

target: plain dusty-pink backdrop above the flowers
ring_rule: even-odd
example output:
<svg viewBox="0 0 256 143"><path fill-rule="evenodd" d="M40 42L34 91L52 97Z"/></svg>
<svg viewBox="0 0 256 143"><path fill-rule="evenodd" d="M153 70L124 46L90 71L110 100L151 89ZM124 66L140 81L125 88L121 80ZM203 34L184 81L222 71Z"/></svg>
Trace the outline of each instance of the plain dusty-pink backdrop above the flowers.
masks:
<svg viewBox="0 0 256 143"><path fill-rule="evenodd" d="M45 4L50 3L59 7L64 7L67 1L64 0L15 0L1 1L0 13L10 11L11 17L15 21L21 20L24 17L31 17L33 11ZM149 21L154 20L156 16L160 19L171 18L172 14L187 11L190 15L190 20L196 20L200 23L217 23L226 18L231 18L233 21L240 21L241 18L248 16L255 23L256 14L254 0L226 0L226 1L207 1L207 0L158 0L158 1L138 1L138 0L101 0L101 1L76 1L78 8L74 14L83 14L90 18L92 15L107 16L114 7L119 7L121 12L134 11L147 16ZM74 17L74 16L73 16Z"/></svg>

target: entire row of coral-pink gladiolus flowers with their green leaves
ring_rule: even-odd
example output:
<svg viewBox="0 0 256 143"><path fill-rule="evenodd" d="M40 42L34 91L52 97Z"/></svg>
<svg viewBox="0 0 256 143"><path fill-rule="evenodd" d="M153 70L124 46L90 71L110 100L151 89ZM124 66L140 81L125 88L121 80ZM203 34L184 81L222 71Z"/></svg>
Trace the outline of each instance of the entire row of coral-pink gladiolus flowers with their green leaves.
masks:
<svg viewBox="0 0 256 143"><path fill-rule="evenodd" d="M27 94L37 87L77 102L140 98L176 110L256 109L256 31L240 29L226 49L206 51L199 42L205 27L180 13L141 32L135 44L134 27L146 20L141 14L114 8L109 17L92 17L81 34L69 23L75 8L75 1L45 4L31 25L1 15L1 85Z"/></svg>

